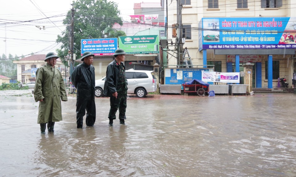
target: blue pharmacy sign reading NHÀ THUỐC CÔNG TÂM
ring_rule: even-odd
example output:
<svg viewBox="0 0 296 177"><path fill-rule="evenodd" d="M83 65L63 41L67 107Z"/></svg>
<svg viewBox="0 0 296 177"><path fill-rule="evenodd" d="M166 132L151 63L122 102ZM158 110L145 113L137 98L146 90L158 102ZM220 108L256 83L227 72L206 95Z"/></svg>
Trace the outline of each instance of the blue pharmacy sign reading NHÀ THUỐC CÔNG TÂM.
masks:
<svg viewBox="0 0 296 177"><path fill-rule="evenodd" d="M113 55L117 49L117 38L81 39L81 56L84 52L94 55Z"/></svg>

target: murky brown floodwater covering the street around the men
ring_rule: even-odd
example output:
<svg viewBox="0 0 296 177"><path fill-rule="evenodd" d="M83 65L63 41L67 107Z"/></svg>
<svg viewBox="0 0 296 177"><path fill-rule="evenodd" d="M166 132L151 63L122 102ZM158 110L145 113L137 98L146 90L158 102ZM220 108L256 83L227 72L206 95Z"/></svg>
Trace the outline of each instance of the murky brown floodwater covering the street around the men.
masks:
<svg viewBox="0 0 296 177"><path fill-rule="evenodd" d="M76 98L40 134L33 97L0 96L0 176L295 177L293 93L128 97L126 125L76 128ZM117 112L118 116L118 112Z"/></svg>

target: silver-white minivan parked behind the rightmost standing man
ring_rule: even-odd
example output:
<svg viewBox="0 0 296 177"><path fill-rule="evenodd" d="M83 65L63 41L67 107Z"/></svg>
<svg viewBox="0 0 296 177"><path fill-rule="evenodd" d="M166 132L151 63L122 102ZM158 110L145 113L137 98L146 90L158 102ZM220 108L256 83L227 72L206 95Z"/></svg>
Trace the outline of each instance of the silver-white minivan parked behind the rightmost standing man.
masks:
<svg viewBox="0 0 296 177"><path fill-rule="evenodd" d="M138 97L144 97L147 93L155 92L157 89L156 78L153 71L145 70L126 70L126 79L128 82L127 93L136 94ZM106 77L96 80L95 96L101 97Z"/></svg>

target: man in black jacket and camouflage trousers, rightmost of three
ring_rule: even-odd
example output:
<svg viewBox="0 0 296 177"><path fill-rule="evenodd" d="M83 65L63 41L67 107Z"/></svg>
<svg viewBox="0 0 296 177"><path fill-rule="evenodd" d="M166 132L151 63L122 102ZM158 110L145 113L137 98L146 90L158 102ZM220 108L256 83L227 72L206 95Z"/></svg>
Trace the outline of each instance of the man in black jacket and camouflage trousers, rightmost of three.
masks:
<svg viewBox="0 0 296 177"><path fill-rule="evenodd" d="M125 76L125 52L122 49L115 50L113 54L115 59L109 63L106 71L106 80L104 85L104 95L110 97L109 125L113 126L113 120L116 119L116 112L119 109L119 123L125 124L126 119L126 98L127 98L127 80Z"/></svg>

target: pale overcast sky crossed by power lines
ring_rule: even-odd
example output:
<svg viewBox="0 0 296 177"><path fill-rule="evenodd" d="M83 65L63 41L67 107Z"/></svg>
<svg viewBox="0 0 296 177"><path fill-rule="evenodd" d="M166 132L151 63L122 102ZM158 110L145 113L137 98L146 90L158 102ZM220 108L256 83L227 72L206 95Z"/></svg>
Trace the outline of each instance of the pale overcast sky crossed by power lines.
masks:
<svg viewBox="0 0 296 177"><path fill-rule="evenodd" d="M118 3L121 17L129 21L134 14L134 3L159 2L160 0L113 0ZM55 52L60 45L55 43L58 34L65 29L62 21L72 8L72 0L2 0L0 11L0 56L6 54L30 55ZM49 18L57 16L55 18ZM44 18L44 19L43 19ZM47 19L49 18L49 19ZM43 19L43 20L39 20ZM15 21L31 21L11 24ZM9 23L7 23L9 22ZM6 25L5 25L6 24ZM45 26L45 30L36 26ZM6 41L5 41L6 40Z"/></svg>

